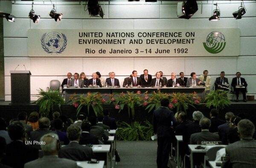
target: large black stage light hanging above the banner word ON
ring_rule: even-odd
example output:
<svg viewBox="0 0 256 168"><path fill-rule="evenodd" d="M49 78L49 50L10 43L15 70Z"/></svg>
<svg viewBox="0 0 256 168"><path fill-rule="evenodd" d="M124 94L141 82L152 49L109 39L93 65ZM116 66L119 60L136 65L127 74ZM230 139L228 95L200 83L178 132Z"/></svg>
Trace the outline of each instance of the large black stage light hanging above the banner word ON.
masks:
<svg viewBox="0 0 256 168"><path fill-rule="evenodd" d="M177 17L189 19L198 10L196 0L187 0L177 3Z"/></svg>

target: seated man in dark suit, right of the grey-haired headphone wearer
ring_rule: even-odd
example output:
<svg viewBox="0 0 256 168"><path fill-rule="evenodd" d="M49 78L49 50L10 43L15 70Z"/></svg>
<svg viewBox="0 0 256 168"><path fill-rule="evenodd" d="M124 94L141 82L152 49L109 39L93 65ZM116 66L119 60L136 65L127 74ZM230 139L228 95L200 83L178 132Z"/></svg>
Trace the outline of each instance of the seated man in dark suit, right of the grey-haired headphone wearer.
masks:
<svg viewBox="0 0 256 168"><path fill-rule="evenodd" d="M79 144L81 133L82 130L79 126L73 125L67 128L67 137L70 143L61 148L58 153L59 157L74 161L91 160L93 158L93 149Z"/></svg>

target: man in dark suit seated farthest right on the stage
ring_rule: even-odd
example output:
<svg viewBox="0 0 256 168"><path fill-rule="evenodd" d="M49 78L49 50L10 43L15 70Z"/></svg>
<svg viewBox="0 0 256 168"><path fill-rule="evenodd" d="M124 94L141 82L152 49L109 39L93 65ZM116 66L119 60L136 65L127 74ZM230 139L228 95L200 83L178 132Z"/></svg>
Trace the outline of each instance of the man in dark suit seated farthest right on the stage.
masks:
<svg viewBox="0 0 256 168"><path fill-rule="evenodd" d="M236 102L238 102L238 97L239 97L239 92L243 93L243 99L244 102L246 102L246 87L247 83L244 78L240 78L241 73L237 72L236 73L236 78L232 79L231 86L233 87L234 92L236 93ZM244 87L244 88L241 88Z"/></svg>

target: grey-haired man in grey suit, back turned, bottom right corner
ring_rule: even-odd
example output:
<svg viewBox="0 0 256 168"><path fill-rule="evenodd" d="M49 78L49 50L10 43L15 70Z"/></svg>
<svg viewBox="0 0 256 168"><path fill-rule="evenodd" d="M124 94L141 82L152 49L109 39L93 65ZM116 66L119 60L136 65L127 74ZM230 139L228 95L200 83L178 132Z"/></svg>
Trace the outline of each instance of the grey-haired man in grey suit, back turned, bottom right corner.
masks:
<svg viewBox="0 0 256 168"><path fill-rule="evenodd" d="M250 120L238 123L241 140L226 146L226 155L221 168L256 168L256 140L253 140L255 126Z"/></svg>

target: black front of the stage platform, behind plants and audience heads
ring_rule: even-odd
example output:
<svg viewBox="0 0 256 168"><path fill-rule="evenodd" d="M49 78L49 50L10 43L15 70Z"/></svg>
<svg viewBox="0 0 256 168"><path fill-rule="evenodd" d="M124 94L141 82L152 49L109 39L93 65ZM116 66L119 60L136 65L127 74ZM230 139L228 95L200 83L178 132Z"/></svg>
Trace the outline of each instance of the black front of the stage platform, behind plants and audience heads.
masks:
<svg viewBox="0 0 256 168"><path fill-rule="evenodd" d="M8 122L13 118L17 118L19 112L24 111L27 112L29 115L33 111L39 111L39 106L35 104L35 102L24 105L14 105L10 103L10 101L0 101L0 118L4 118ZM131 123L134 120L140 122L143 122L145 120L151 122L152 120L152 111L148 113L148 111L145 110L145 107L141 106L135 107L134 119L128 116L127 107L125 107L124 110L122 110L120 113L118 113L118 109L114 108L114 105L104 105L103 108L108 109L110 112L110 116L116 118L117 121L125 121ZM201 111L206 117L209 118L210 109L208 109L205 104L201 104L199 106L196 106L196 109L194 109L193 107L189 108L189 110L187 111L189 119L192 119L192 113L195 110ZM58 106L54 107L54 111L60 111L58 109ZM82 111L87 113L87 108L82 109ZM174 112L176 112L175 109ZM230 106L220 112L219 117L224 118L226 112L233 112L235 115L243 114L246 118L250 119L252 116L256 115L256 100L247 102L232 101ZM66 115L67 118L72 118L74 120L76 118L76 108L70 105L62 105L61 114ZM90 115L93 115L92 109L90 110ZM49 118L52 120L52 116L49 116Z"/></svg>

